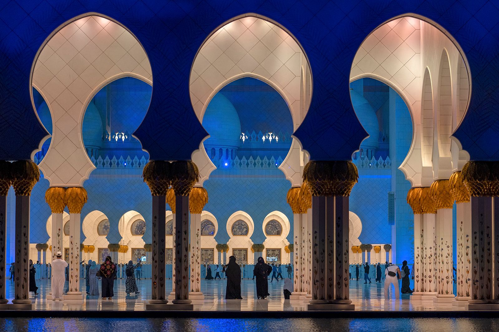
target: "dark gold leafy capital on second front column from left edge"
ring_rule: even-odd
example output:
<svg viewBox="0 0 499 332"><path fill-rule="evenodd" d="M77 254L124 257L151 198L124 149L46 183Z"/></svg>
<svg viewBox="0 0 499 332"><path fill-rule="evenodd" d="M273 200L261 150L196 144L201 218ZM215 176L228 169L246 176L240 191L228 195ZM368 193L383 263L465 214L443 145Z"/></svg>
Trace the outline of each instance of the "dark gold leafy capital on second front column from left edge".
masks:
<svg viewBox="0 0 499 332"><path fill-rule="evenodd" d="M38 166L30 160L18 160L10 167L15 195L29 196L36 182L40 180Z"/></svg>

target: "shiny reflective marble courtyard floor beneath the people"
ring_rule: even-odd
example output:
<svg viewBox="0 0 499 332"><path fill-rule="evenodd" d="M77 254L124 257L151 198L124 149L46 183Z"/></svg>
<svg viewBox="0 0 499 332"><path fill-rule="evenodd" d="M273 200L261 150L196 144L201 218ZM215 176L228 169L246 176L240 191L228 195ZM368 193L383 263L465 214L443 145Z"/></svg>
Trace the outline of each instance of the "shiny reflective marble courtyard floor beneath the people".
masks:
<svg viewBox="0 0 499 332"><path fill-rule="evenodd" d="M85 290L84 280L81 283ZM52 301L50 292L50 280L37 280L39 294L30 298L34 303L35 310L90 310L90 311L142 311L151 298L151 280L143 279L137 281L140 293L127 295L125 293L125 279L118 279L114 284L115 297L112 300L102 300L96 296L86 296L82 302ZM14 296L13 283L7 280L7 298L11 300ZM243 300L225 300L226 280L202 280L201 290L205 295L204 301L194 303L194 310L198 311L305 311L305 303L290 303L284 300L282 289L283 281L268 283L270 296L266 300L256 300L254 280L242 281L241 292ZM66 286L67 287L67 282ZM167 280L166 291L172 290L171 280ZM355 305L356 311L462 311L464 307L452 304L434 303L433 301L411 301L409 295L402 294L401 299L384 299L384 284L364 284L363 281L351 281L350 299Z"/></svg>

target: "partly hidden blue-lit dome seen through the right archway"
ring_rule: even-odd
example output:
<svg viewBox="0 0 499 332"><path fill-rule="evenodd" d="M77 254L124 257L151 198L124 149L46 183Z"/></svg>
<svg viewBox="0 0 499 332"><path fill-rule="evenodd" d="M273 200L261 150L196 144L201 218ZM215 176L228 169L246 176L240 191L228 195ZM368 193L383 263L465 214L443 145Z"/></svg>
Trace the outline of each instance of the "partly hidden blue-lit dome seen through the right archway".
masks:
<svg viewBox="0 0 499 332"><path fill-rule="evenodd" d="M379 123L376 112L361 94L350 90L350 97L357 118L369 134L369 137L360 144L360 148L377 150L379 147Z"/></svg>

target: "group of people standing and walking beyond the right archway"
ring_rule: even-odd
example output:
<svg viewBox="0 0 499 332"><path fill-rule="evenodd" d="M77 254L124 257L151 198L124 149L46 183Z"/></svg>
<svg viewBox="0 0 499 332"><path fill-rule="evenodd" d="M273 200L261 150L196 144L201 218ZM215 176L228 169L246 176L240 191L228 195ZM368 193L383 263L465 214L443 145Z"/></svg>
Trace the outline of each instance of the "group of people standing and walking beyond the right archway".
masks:
<svg viewBox="0 0 499 332"><path fill-rule="evenodd" d="M385 280L385 298L388 298L388 291L390 285L395 288L395 298L400 297L399 293L399 283L398 280L402 280L402 286L400 292L402 294L411 294L413 291L410 287L410 269L407 265L407 261L402 262L402 268L399 269L398 266L385 262L385 264L377 263L374 265L376 267L376 283L381 283L381 278ZM364 269L364 284L371 284L371 278L369 277L370 265L366 262L363 266L361 264L355 264L350 266L350 280L354 279L352 276L352 270L355 273L355 280L359 280L359 272ZM382 274L384 270L384 274ZM414 276L412 277L414 279Z"/></svg>

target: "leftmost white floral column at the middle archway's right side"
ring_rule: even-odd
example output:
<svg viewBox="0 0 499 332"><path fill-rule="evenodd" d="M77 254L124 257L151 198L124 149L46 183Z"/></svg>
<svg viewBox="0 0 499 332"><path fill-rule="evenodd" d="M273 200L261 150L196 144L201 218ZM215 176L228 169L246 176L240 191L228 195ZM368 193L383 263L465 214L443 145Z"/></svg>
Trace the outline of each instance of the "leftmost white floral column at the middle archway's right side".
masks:
<svg viewBox="0 0 499 332"><path fill-rule="evenodd" d="M303 214L293 213L293 292L289 296L289 301L295 302L303 300L303 275L302 275L302 251L303 251L303 238L302 238L302 227L303 227Z"/></svg>

